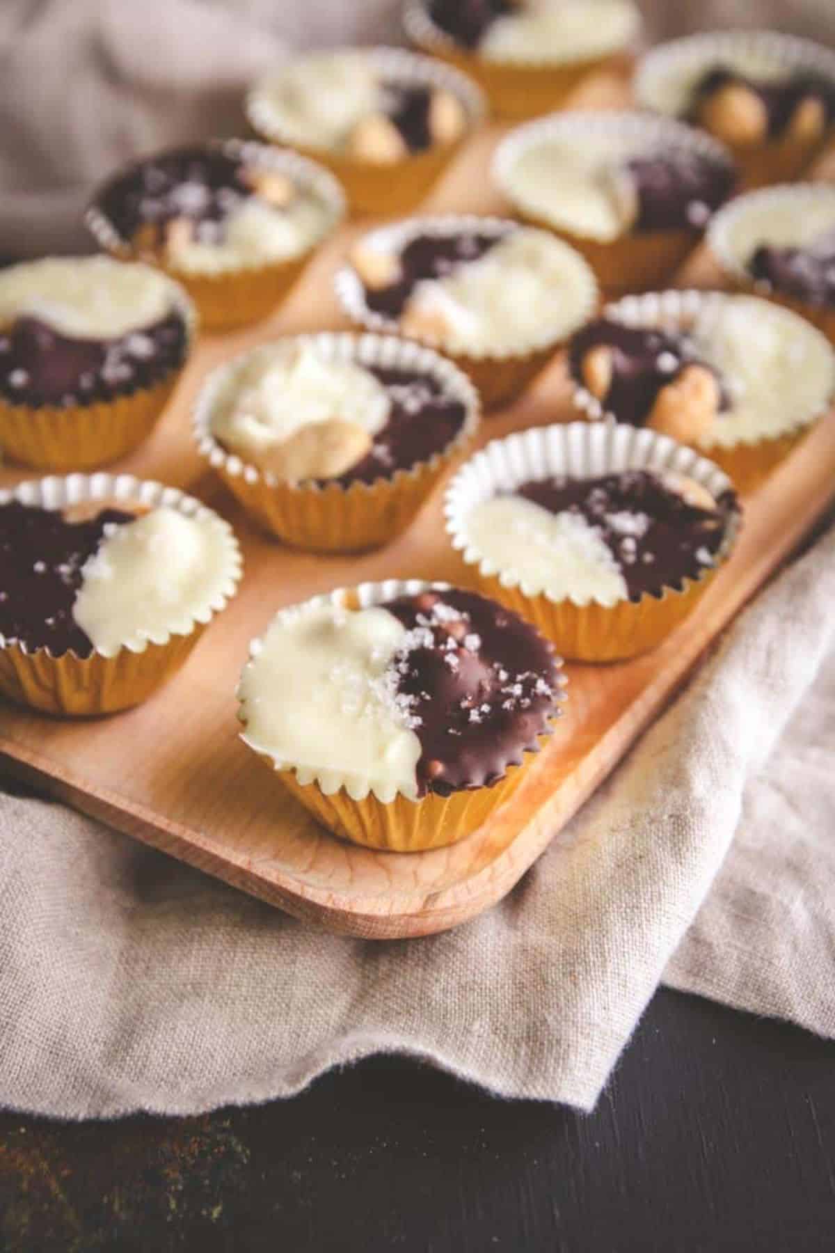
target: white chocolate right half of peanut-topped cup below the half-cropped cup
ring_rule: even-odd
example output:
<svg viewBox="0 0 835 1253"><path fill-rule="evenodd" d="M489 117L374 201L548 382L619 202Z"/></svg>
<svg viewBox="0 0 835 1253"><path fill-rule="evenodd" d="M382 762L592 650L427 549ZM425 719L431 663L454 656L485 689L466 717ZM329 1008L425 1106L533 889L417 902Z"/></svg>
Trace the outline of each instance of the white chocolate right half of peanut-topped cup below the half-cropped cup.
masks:
<svg viewBox="0 0 835 1253"><path fill-rule="evenodd" d="M696 352L729 392L697 440L702 449L774 439L820 412L835 390L835 357L802 318L749 296L707 303L690 330Z"/></svg>

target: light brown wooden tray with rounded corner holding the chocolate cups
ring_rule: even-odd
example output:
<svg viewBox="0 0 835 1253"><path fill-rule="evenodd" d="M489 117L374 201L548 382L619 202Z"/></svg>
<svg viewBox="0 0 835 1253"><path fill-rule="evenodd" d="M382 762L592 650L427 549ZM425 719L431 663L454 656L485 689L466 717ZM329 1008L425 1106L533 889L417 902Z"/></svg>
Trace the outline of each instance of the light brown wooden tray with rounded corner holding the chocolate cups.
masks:
<svg viewBox="0 0 835 1253"><path fill-rule="evenodd" d="M433 208L501 208L483 192L494 139L496 132L486 132L473 142L433 197ZM835 425L830 415L746 502L732 561L662 648L626 664L567 668L566 715L493 821L452 848L427 853L377 853L342 843L239 742L234 687L249 639L280 605L388 575L461 580L444 539L441 494L381 553L319 558L292 551L259 535L204 474L190 442L189 407L205 370L232 352L279 332L343 325L330 278L356 231L346 228L323 251L279 316L254 331L205 341L154 437L118 466L188 487L229 516L245 560L238 598L174 682L139 709L61 723L3 707L0 762L78 809L300 918L384 938L454 926L513 887L824 510L835 494ZM709 286L715 274L696 261L687 279ZM568 416L563 363L556 361L512 410L486 421L482 442ZM0 486L29 476L5 467Z"/></svg>

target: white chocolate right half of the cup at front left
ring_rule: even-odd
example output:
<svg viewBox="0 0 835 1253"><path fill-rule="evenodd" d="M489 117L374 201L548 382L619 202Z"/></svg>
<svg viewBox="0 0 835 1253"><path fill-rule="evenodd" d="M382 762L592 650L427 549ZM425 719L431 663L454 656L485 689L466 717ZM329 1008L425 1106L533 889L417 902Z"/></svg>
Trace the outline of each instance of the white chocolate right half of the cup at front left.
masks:
<svg viewBox="0 0 835 1253"><path fill-rule="evenodd" d="M83 566L73 616L105 657L205 620L229 583L228 529L161 506L115 525Z"/></svg>

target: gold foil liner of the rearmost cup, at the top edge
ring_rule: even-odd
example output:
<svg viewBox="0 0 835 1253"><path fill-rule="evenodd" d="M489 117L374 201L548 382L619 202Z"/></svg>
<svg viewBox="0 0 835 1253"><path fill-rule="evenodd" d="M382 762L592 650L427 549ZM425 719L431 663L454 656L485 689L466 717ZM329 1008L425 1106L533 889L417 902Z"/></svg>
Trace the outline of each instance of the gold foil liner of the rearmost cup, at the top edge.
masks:
<svg viewBox="0 0 835 1253"><path fill-rule="evenodd" d="M488 60L477 50L463 48L437 26L426 0L407 0L403 23L411 41L431 56L453 65L473 79L487 96L491 110L499 118L536 118L561 108L591 74L630 73L633 54L630 46L582 60ZM636 20L633 38L640 29Z"/></svg>

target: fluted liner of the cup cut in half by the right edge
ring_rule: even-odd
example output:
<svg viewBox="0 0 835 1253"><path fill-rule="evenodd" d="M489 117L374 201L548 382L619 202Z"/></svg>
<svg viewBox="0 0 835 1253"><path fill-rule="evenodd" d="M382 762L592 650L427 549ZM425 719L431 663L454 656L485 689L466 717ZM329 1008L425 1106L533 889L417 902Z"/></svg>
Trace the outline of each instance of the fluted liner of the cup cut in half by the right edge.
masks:
<svg viewBox="0 0 835 1253"><path fill-rule="evenodd" d="M772 212L789 211L797 222L804 222L807 211L821 205L831 205L830 228L835 228L835 187L831 184L795 183L740 195L716 214L707 232L707 244L725 277L737 291L755 292L775 304L800 313L835 345L835 307L811 304L777 292L770 283L755 279L746 264L759 244L770 242L767 219ZM760 222L766 226L757 228Z"/></svg>

